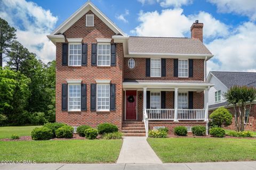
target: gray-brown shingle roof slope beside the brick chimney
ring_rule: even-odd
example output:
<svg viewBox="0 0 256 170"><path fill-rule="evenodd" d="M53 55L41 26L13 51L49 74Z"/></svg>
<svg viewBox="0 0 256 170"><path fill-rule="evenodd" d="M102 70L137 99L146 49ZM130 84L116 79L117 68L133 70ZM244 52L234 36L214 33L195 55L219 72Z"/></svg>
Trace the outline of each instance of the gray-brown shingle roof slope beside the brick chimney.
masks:
<svg viewBox="0 0 256 170"><path fill-rule="evenodd" d="M212 53L199 39L129 37L129 53L206 54Z"/></svg>

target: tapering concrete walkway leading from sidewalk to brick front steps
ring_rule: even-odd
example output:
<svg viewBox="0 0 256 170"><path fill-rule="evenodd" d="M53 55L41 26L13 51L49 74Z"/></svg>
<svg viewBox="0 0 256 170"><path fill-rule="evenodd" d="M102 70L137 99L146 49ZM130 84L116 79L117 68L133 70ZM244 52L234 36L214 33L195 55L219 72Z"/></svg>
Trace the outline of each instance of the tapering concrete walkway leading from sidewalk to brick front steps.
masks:
<svg viewBox="0 0 256 170"><path fill-rule="evenodd" d="M117 164L161 164L146 137L124 137Z"/></svg>

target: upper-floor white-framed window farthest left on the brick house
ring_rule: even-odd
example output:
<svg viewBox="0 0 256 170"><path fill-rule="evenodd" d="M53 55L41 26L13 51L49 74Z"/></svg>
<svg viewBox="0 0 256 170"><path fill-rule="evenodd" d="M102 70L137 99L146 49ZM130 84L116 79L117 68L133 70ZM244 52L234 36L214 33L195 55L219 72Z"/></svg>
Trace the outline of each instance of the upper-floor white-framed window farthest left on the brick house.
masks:
<svg viewBox="0 0 256 170"><path fill-rule="evenodd" d="M69 65L81 65L82 44L69 43Z"/></svg>

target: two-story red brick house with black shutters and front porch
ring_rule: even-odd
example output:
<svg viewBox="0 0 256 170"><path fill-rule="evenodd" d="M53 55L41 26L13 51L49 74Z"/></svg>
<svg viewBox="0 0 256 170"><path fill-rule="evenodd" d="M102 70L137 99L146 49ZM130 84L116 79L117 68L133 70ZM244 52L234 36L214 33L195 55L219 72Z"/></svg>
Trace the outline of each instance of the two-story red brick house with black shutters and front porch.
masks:
<svg viewBox="0 0 256 170"><path fill-rule="evenodd" d="M128 37L91 2L47 36L56 46L56 121L125 135L207 124L203 23L191 38Z"/></svg>

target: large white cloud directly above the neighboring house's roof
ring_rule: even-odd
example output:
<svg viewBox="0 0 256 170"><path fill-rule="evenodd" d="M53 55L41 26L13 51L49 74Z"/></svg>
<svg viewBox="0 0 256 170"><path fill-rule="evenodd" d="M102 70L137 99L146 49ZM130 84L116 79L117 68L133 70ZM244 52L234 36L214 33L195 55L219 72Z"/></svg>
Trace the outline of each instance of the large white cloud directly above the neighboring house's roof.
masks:
<svg viewBox="0 0 256 170"><path fill-rule="evenodd" d="M219 38L206 44L215 55L208 62L208 70L256 72L256 25L245 22L227 38Z"/></svg>

